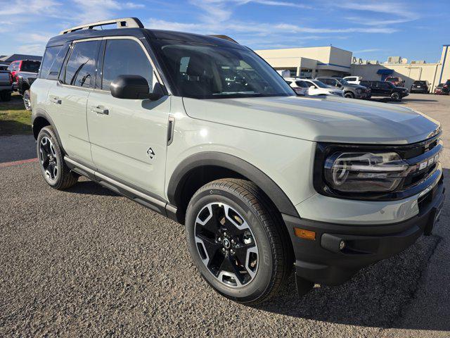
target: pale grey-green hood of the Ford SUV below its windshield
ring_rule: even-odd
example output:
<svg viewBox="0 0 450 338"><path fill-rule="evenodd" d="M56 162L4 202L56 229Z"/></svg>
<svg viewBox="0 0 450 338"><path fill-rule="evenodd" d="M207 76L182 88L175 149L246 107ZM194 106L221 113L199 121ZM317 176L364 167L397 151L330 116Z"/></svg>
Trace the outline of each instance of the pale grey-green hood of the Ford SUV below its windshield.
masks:
<svg viewBox="0 0 450 338"><path fill-rule="evenodd" d="M335 96L183 101L191 118L316 142L409 144L439 127L411 108Z"/></svg>

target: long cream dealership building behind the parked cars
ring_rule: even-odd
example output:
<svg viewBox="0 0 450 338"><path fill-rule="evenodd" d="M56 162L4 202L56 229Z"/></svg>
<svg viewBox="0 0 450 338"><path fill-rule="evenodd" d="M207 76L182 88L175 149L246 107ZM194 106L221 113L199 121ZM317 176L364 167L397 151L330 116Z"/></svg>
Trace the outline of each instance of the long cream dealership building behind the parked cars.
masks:
<svg viewBox="0 0 450 338"><path fill-rule="evenodd" d="M427 80L430 88L450 80L450 45L442 46L439 62L408 62L405 58L390 57L385 63L354 58L351 51L335 46L255 51L276 70L290 70L293 77L357 75L364 80L385 80L387 76L401 77L409 88L415 80Z"/></svg>

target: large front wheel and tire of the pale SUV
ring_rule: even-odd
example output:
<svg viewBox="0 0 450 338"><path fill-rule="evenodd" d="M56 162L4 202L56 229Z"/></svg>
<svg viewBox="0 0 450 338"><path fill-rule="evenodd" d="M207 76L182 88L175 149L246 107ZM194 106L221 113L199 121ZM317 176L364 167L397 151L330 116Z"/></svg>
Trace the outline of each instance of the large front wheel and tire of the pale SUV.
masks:
<svg viewBox="0 0 450 338"><path fill-rule="evenodd" d="M281 215L247 180L216 180L198 189L186 212L186 237L202 277L233 301L266 301L293 268Z"/></svg>

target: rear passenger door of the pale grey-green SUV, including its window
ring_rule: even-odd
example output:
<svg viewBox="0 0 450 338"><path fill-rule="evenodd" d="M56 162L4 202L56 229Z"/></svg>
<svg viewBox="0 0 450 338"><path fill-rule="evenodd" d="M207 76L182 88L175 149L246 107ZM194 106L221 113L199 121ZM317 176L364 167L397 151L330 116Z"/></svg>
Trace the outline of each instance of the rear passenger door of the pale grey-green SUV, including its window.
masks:
<svg viewBox="0 0 450 338"><path fill-rule="evenodd" d="M49 114L66 153L76 161L92 165L87 132L86 106L94 88L96 60L101 39L81 40L70 46L59 81L49 89Z"/></svg>

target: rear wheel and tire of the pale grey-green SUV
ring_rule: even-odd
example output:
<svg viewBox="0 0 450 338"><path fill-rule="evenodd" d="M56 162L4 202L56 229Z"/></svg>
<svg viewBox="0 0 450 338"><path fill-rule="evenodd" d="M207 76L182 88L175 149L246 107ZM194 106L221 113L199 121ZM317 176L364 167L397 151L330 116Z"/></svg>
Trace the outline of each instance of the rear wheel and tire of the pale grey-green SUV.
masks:
<svg viewBox="0 0 450 338"><path fill-rule="evenodd" d="M63 151L49 125L43 127L37 136L37 158L42 175L50 187L63 190L77 183L79 176L65 164Z"/></svg>

